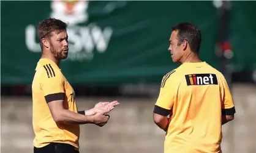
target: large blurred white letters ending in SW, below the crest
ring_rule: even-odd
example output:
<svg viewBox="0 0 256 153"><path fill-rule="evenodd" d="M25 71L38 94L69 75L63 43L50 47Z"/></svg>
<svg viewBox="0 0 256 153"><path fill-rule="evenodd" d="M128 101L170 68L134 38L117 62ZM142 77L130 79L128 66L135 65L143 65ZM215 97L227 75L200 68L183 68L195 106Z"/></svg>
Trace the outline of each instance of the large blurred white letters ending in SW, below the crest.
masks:
<svg viewBox="0 0 256 153"><path fill-rule="evenodd" d="M93 59L93 51L104 53L113 33L111 27L101 29L97 24L88 26L68 27L69 35L69 56L67 59L72 61L84 61ZM37 43L36 26L26 27L26 46L31 52L41 52L40 44Z"/></svg>

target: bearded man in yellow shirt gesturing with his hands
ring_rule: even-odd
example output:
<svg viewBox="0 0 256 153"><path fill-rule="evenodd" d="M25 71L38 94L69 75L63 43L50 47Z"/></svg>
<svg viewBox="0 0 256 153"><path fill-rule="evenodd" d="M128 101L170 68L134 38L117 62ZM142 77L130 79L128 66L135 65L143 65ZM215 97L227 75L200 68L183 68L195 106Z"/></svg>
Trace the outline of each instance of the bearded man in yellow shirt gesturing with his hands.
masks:
<svg viewBox="0 0 256 153"><path fill-rule="evenodd" d="M38 26L42 57L32 82L32 121L35 153L79 152L79 124L104 126L108 112L119 103L99 102L78 112L75 92L59 68L69 51L67 24L47 18Z"/></svg>

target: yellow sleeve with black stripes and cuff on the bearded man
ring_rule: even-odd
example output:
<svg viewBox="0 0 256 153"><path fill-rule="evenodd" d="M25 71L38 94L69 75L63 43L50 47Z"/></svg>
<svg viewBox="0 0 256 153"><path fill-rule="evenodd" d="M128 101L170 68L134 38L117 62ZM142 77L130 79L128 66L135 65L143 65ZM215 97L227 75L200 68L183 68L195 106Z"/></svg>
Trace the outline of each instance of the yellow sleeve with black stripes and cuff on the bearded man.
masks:
<svg viewBox="0 0 256 153"><path fill-rule="evenodd" d="M45 73L42 74L41 88L47 103L51 101L64 100L64 79L62 74L58 73L56 69L48 69L48 71L45 71Z"/></svg>

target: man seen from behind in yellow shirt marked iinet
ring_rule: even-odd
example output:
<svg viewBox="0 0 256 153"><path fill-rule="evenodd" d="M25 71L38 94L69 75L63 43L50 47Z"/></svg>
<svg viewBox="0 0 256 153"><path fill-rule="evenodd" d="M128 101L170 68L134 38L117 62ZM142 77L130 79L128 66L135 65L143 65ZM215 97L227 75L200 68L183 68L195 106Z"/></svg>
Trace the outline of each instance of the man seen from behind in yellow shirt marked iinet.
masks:
<svg viewBox="0 0 256 153"><path fill-rule="evenodd" d="M201 33L196 26L174 26L169 41L171 59L181 66L163 77L154 107L154 123L166 132L164 151L220 153L222 125L235 114L227 82L199 59Z"/></svg>

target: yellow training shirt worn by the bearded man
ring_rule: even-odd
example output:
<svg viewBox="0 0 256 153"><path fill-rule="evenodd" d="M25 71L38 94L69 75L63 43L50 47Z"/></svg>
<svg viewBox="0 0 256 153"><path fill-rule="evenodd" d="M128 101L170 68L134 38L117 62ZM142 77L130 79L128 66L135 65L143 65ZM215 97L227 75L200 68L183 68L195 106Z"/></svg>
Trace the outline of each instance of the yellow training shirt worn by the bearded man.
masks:
<svg viewBox="0 0 256 153"><path fill-rule="evenodd" d="M42 148L51 142L71 144L79 148L80 126L55 123L48 102L64 100L64 109L77 113L75 92L61 73L61 69L49 59L37 63L32 82L34 146Z"/></svg>

